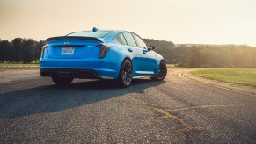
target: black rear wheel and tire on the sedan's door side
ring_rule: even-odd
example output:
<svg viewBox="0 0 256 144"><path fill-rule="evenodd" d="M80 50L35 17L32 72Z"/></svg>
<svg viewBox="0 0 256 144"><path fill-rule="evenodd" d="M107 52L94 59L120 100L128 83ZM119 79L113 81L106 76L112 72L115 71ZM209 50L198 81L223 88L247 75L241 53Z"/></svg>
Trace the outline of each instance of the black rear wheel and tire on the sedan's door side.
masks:
<svg viewBox="0 0 256 144"><path fill-rule="evenodd" d="M121 88L127 88L132 83L132 71L132 62L128 59L122 61L119 76L117 79L118 86L120 86Z"/></svg>

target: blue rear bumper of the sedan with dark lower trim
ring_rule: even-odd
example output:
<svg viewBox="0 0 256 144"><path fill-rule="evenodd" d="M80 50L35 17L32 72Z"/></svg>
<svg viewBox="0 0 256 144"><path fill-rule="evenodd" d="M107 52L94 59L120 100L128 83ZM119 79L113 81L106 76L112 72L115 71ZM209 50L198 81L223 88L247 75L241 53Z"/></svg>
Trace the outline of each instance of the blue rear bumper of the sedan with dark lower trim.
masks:
<svg viewBox="0 0 256 144"><path fill-rule="evenodd" d="M105 59L40 59L41 76L70 76L88 79L117 79L121 61Z"/></svg>

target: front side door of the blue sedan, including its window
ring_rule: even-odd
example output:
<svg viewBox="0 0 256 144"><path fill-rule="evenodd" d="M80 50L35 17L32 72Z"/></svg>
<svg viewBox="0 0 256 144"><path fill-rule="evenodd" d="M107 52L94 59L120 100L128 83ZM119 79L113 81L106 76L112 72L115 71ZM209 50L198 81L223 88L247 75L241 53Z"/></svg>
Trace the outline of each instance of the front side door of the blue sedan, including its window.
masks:
<svg viewBox="0 0 256 144"><path fill-rule="evenodd" d="M143 71L148 74L155 74L157 68L155 52L149 51L145 42L137 34L133 33L133 36L138 47L143 48Z"/></svg>

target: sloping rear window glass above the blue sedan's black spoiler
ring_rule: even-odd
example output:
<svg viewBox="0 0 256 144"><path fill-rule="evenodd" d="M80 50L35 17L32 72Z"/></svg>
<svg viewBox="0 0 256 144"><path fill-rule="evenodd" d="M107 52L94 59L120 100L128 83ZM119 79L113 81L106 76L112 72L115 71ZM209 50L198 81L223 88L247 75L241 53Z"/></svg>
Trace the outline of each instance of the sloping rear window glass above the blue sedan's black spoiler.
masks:
<svg viewBox="0 0 256 144"><path fill-rule="evenodd" d="M96 38L103 38L107 34L109 34L112 31L97 31L97 32L92 32L92 31L83 31L83 32L72 32L69 33L67 36L82 36L82 37L96 37Z"/></svg>

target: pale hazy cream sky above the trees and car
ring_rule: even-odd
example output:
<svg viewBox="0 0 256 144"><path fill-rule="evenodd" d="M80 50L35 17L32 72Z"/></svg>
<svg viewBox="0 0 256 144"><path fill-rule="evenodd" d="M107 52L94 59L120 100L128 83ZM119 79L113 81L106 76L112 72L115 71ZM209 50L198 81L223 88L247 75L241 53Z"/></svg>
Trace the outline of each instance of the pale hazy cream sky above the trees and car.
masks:
<svg viewBox="0 0 256 144"><path fill-rule="evenodd" d="M121 29L175 44L256 46L256 0L0 0L0 39Z"/></svg>

